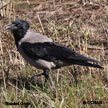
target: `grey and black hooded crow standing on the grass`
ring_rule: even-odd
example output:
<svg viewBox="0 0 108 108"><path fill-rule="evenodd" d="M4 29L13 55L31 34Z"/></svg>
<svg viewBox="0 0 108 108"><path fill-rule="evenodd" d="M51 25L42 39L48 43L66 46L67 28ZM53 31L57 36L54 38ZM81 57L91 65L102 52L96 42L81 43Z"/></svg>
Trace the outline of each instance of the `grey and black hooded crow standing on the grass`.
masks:
<svg viewBox="0 0 108 108"><path fill-rule="evenodd" d="M32 78L44 75L48 80L49 70L72 64L103 68L98 65L97 60L78 54L71 48L57 44L47 36L34 32L24 20L16 20L6 29L12 31L16 47L22 57L34 67L43 70L43 73Z"/></svg>

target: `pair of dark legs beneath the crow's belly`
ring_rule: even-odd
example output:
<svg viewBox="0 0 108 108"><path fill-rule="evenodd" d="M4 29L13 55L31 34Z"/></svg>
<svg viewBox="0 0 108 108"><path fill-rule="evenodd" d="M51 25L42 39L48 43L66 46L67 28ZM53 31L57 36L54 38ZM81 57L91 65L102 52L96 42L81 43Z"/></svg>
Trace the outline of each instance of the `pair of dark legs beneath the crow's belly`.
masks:
<svg viewBox="0 0 108 108"><path fill-rule="evenodd" d="M43 70L42 73L39 73L39 74L36 74L36 75L32 76L31 79L30 79L30 81L32 81L33 79L36 79L36 78L38 78L38 77L40 77L42 75L45 76L45 82L47 82L49 80L49 72L46 69Z"/></svg>

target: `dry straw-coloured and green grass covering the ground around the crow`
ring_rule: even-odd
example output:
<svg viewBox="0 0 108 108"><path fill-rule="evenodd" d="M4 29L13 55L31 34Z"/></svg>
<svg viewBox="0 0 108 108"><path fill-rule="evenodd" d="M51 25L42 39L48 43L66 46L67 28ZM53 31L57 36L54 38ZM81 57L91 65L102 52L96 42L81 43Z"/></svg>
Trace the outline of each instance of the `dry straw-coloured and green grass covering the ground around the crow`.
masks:
<svg viewBox="0 0 108 108"><path fill-rule="evenodd" d="M28 108L107 108L107 5L107 0L14 2L11 14L0 17L0 107L27 107L6 106L4 102L8 101L30 102ZM14 19L27 20L31 28L55 42L98 59L104 69L70 66L52 71L50 84L45 85L44 78L27 83L32 75L41 70L22 59L11 33L4 30ZM84 105L83 101L102 101L103 104Z"/></svg>

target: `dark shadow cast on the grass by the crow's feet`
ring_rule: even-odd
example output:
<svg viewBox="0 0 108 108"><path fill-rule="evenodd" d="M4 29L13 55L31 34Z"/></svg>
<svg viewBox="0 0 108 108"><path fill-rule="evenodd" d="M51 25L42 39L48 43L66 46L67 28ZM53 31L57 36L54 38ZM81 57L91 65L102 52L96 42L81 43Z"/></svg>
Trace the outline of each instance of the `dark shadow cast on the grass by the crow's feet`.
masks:
<svg viewBox="0 0 108 108"><path fill-rule="evenodd" d="M30 81L30 78L20 77L20 76L18 76L17 78L8 78L5 80L5 83L3 79L0 79L0 86L4 84L6 85L6 87L10 85L20 90L23 88L26 88L27 90L32 90L35 89L35 87L43 89L43 87L46 87L47 85L47 83L45 83L42 78Z"/></svg>

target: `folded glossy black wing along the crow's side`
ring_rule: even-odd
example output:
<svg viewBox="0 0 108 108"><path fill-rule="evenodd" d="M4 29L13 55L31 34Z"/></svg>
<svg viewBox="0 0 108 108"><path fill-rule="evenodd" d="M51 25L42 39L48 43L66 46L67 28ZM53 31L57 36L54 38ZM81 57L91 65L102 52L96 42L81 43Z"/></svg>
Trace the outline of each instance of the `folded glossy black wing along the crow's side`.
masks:
<svg viewBox="0 0 108 108"><path fill-rule="evenodd" d="M87 58L81 54L74 52L71 48L65 47L63 45L54 42L44 42L44 43L28 43L24 42L21 44L23 52L31 57L32 59L44 59L47 61L62 60L65 62L75 61L92 61L98 62L97 60Z"/></svg>

